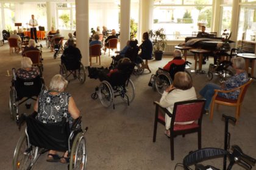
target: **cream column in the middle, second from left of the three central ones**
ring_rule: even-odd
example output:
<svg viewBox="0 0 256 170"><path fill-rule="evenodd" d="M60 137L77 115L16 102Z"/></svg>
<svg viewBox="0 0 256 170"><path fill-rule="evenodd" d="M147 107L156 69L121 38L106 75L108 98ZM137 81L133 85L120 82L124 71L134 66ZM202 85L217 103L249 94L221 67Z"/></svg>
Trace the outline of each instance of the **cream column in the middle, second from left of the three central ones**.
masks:
<svg viewBox="0 0 256 170"><path fill-rule="evenodd" d="M123 49L130 39L130 0L121 0L120 12L120 49Z"/></svg>

